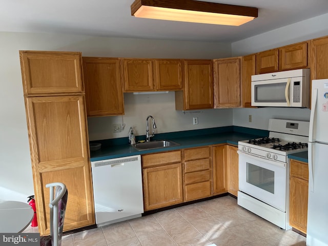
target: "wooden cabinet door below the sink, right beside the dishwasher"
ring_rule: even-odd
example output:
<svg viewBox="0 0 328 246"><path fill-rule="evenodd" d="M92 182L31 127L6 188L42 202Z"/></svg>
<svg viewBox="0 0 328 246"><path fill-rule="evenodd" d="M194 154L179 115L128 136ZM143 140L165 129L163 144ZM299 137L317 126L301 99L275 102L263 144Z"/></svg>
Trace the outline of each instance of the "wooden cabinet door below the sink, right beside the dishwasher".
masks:
<svg viewBox="0 0 328 246"><path fill-rule="evenodd" d="M183 201L181 163L143 169L145 211Z"/></svg>

